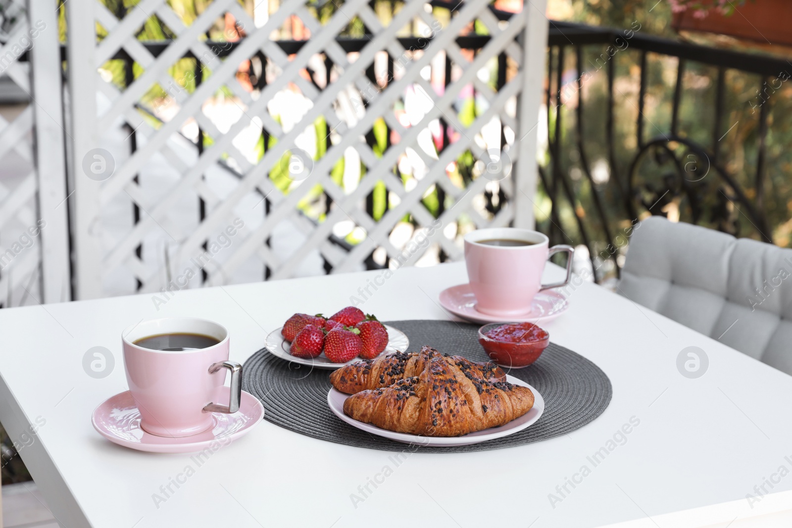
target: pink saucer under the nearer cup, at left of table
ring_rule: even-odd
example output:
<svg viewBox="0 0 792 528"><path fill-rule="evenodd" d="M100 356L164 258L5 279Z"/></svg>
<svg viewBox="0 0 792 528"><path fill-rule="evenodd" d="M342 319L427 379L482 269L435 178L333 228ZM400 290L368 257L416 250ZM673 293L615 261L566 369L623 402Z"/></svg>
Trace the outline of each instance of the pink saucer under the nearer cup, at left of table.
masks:
<svg viewBox="0 0 792 528"><path fill-rule="evenodd" d="M223 387L226 393L228 387ZM150 453L191 453L207 447L227 446L245 435L264 418L261 401L242 391L239 410L234 414L212 412L215 425L198 435L166 438L140 428L140 412L129 391L105 400L93 411L93 428L112 443Z"/></svg>

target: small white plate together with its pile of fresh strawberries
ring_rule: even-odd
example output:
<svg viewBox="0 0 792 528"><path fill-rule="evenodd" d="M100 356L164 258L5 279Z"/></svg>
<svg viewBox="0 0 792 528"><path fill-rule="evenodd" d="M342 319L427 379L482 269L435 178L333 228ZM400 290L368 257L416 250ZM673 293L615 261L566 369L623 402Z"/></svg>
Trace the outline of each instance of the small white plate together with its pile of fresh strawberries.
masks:
<svg viewBox="0 0 792 528"><path fill-rule="evenodd" d="M280 359L330 370L385 352L406 351L408 346L404 332L352 306L330 317L295 313L270 332L265 343Z"/></svg>

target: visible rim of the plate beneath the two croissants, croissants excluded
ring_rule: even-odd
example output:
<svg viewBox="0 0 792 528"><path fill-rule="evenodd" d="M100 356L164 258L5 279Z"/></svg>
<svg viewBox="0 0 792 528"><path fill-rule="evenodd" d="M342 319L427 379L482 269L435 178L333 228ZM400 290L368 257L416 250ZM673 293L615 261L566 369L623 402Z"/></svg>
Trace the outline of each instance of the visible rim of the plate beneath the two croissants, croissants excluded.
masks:
<svg viewBox="0 0 792 528"><path fill-rule="evenodd" d="M501 427L490 427L489 429L476 431L464 436L449 437L409 435L406 433L388 431L371 424L364 424L363 422L354 420L344 414L344 402L352 395L342 393L341 391L333 388L331 388L329 393L327 393L327 403L333 413L341 418L341 420L344 420L347 424L352 425L352 427L357 427L358 429L367 431L372 435L383 436L384 438L395 440L396 442L411 443L421 446L470 446L475 443L482 443L488 440L499 439L503 438L504 436L513 435L516 432L524 430L526 427L530 427L531 424L535 424L536 420L539 420L539 416L542 416L542 412L544 412L544 400L542 395L539 394L538 390L528 385L523 380L515 378L514 376L507 375L506 381L512 383L513 385L523 386L531 389L531 391L534 393L534 406L531 408L531 410L525 413L523 416L508 422L508 424L501 425Z"/></svg>

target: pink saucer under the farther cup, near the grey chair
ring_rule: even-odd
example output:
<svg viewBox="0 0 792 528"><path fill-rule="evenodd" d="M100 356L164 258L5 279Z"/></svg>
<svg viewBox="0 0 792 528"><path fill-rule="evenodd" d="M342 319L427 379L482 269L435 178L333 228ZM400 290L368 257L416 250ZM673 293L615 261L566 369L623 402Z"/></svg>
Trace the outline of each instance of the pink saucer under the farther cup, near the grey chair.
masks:
<svg viewBox="0 0 792 528"><path fill-rule="evenodd" d="M569 301L559 291L543 290L536 294L531 302L530 312L519 317L499 317L476 310L476 296L470 289L470 284L459 284L440 292L440 305L454 315L475 323L499 323L501 321L516 323L531 321L535 323L558 317L569 308Z"/></svg>

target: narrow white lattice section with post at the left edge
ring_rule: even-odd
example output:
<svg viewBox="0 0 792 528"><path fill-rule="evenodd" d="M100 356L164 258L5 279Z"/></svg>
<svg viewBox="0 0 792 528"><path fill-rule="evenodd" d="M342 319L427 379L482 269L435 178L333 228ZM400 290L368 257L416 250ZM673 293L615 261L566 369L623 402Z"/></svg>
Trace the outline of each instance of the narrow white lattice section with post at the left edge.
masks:
<svg viewBox="0 0 792 528"><path fill-rule="evenodd" d="M54 4L5 2L2 8L0 303L65 301L66 172Z"/></svg>

